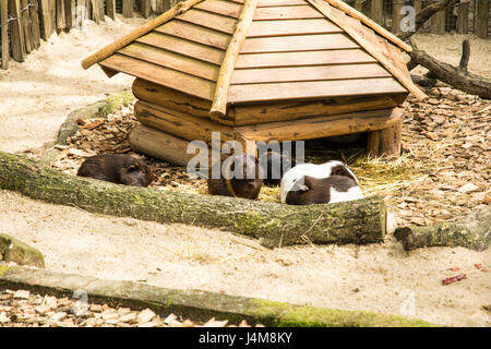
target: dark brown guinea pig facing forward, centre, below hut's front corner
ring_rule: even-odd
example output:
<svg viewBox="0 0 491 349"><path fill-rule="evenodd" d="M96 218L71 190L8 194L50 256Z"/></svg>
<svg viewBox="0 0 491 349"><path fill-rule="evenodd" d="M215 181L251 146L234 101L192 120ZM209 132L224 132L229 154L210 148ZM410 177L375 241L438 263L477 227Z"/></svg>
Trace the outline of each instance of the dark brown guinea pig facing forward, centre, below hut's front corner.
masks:
<svg viewBox="0 0 491 349"><path fill-rule="evenodd" d="M227 159L224 166L226 173L231 176L224 177L221 172L219 179L209 176L208 193L256 200L263 185L262 169L258 158L251 154L237 155Z"/></svg>

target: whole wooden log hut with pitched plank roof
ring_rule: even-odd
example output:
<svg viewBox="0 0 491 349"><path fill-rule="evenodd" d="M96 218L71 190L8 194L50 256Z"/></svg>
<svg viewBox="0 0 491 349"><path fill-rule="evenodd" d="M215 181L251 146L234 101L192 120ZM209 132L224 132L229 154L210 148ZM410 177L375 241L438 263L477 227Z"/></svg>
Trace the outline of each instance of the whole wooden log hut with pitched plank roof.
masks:
<svg viewBox="0 0 491 349"><path fill-rule="evenodd" d="M368 132L398 155L415 86L407 44L340 0L189 0L82 62L136 77L143 153L185 164L189 141L298 141Z"/></svg>

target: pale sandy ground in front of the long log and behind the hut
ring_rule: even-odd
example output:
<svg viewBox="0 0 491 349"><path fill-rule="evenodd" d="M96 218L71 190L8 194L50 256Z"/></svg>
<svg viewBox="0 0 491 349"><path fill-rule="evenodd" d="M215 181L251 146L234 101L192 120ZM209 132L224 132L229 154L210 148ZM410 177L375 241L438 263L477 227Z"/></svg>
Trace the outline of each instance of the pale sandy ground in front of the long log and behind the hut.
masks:
<svg viewBox="0 0 491 349"><path fill-rule="evenodd" d="M97 67L83 71L80 61L141 23L139 19L91 23L87 33L53 36L25 63L11 62L7 72L0 71L0 149L41 146L55 137L71 110L130 87L131 77L108 80ZM490 43L483 41L484 53ZM441 45L431 47L458 61L458 50L440 52ZM489 72L486 57L478 63L471 59L471 70L476 64ZM0 230L39 249L52 270L406 314L444 325L491 326L491 315L482 309L491 304L491 273L474 267L480 263L491 270L490 250L432 248L406 253L390 237L381 245L270 251L228 232L93 215L7 191L0 191ZM458 274L451 267L459 267L468 278L442 286L443 278Z"/></svg>

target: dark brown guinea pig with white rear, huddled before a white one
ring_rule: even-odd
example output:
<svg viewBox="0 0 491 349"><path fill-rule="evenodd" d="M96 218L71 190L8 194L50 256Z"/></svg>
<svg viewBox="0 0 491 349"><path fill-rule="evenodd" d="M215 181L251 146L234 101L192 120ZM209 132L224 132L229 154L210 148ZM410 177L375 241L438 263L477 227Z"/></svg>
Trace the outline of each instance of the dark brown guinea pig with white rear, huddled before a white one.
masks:
<svg viewBox="0 0 491 349"><path fill-rule="evenodd" d="M330 204L363 198L358 183L345 176L314 178L303 176L286 195L289 205Z"/></svg>

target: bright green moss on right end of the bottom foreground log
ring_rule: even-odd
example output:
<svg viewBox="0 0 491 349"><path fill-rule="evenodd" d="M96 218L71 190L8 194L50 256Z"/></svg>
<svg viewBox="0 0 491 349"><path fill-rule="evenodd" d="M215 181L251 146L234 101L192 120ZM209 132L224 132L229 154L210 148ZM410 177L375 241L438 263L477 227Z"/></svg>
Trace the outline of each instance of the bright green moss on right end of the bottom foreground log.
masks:
<svg viewBox="0 0 491 349"><path fill-rule="evenodd" d="M290 305L253 299L258 308L253 311L258 321L278 327L429 327L434 326L422 320L406 318L367 311L345 311L310 305Z"/></svg>

